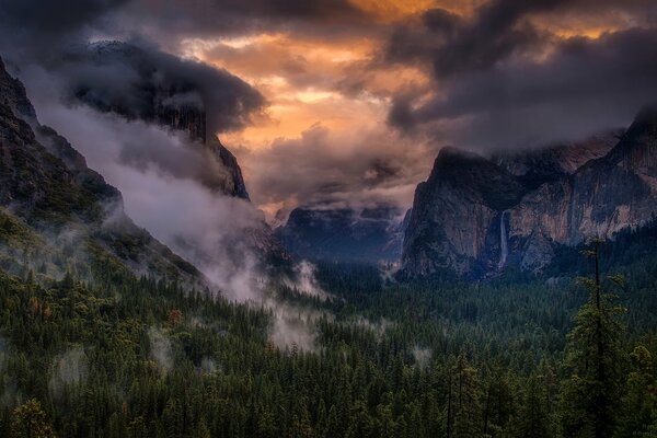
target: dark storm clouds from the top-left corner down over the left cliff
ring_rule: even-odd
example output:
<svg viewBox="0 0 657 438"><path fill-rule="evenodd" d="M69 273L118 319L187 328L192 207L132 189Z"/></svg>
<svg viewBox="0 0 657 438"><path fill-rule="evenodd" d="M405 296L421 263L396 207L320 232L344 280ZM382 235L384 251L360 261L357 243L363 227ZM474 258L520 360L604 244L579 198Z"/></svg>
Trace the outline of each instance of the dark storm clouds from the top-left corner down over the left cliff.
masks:
<svg viewBox="0 0 657 438"><path fill-rule="evenodd" d="M204 106L211 114L208 124L212 131L249 124L250 116L265 104L264 97L226 70L165 54L136 33L130 44L88 44L97 35L120 35L119 11L136 1L4 0L0 53L10 65L45 66L68 84L67 92L82 93L87 102L102 110L123 108L123 115L131 118L152 112L155 104L184 104ZM286 4L281 10L292 7ZM178 16L189 9L182 3L177 7ZM164 88L173 95L166 102L153 102L153 90Z"/></svg>

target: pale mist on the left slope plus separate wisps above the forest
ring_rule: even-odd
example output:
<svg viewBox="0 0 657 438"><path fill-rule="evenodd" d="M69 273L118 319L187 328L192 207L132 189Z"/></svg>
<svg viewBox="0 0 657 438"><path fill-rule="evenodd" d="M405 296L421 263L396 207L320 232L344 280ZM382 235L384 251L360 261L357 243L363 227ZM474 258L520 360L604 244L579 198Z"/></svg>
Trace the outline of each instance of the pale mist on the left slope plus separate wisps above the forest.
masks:
<svg viewBox="0 0 657 438"><path fill-rule="evenodd" d="M203 145L185 132L71 105L61 99L65 85L58 77L38 66L23 69L22 79L39 122L56 128L91 169L122 192L125 212L138 226L193 263L221 297L256 307L264 303L272 311L269 337L275 345L313 348L318 315L267 296L274 278L263 263L266 249L257 242L258 233L266 232L264 215L245 199L208 187L208 177L226 171L219 162L214 166L217 175L199 177L212 169ZM280 280L299 293L325 299L314 269L301 261ZM151 356L166 372L171 368L168 338L151 328L149 339Z"/></svg>

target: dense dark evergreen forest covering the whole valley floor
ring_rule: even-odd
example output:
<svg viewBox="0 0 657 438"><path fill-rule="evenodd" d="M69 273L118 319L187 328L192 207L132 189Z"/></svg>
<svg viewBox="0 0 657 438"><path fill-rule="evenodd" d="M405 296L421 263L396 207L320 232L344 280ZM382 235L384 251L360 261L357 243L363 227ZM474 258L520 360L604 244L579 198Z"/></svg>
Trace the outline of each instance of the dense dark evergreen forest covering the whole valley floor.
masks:
<svg viewBox="0 0 657 438"><path fill-rule="evenodd" d="M0 272L0 437L655 437L650 269L616 299L593 275L586 302L337 273L333 301L278 291L313 315L310 349L275 344L266 310L153 279Z"/></svg>

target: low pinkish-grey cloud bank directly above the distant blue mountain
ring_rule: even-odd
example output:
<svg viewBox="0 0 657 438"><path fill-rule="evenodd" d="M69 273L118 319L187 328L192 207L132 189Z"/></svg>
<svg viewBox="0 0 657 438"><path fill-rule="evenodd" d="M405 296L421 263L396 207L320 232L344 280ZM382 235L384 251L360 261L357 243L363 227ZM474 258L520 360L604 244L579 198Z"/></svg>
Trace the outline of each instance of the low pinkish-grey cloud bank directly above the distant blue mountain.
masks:
<svg viewBox="0 0 657 438"><path fill-rule="evenodd" d="M391 147L394 145L394 147ZM267 148L235 150L261 206L407 207L435 150L384 127L343 132L314 125Z"/></svg>

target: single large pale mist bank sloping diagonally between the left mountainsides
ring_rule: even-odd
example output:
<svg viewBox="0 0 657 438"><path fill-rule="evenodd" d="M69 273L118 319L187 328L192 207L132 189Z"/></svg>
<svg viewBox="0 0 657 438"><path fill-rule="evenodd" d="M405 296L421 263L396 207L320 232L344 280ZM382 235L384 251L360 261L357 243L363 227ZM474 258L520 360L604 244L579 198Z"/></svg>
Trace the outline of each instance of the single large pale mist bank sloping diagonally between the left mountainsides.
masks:
<svg viewBox="0 0 657 438"><path fill-rule="evenodd" d="M228 298L257 297L255 285L265 276L256 246L258 233L266 232L263 215L244 199L208 188L203 148L162 127L62 106L51 74L38 68L24 73L39 119L56 126L90 168L120 189L136 223L194 263Z"/></svg>

